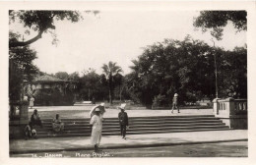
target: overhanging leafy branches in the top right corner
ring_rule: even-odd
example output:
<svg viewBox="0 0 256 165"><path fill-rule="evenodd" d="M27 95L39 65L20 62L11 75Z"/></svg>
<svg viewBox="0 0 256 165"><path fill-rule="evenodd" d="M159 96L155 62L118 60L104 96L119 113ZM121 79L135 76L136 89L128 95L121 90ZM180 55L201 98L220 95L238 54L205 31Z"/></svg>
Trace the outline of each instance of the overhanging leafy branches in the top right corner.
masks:
<svg viewBox="0 0 256 165"><path fill-rule="evenodd" d="M246 11L202 11L200 16L195 19L194 27L202 27L204 32L211 29L211 34L220 40L228 21L238 31L247 30L246 17Z"/></svg>

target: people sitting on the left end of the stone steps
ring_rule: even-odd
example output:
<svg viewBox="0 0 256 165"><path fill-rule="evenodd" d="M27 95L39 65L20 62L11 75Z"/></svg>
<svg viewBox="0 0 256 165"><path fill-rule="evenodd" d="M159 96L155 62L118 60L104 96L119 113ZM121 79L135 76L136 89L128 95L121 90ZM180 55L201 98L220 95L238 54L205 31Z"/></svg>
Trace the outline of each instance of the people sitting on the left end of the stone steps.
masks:
<svg viewBox="0 0 256 165"><path fill-rule="evenodd" d="M43 128L42 121L36 109L33 110L31 121L25 127L25 138L37 138L36 130L34 126L40 126ZM61 133L64 130L64 123L61 122L59 114L56 114L55 118L52 120L52 131L54 134Z"/></svg>

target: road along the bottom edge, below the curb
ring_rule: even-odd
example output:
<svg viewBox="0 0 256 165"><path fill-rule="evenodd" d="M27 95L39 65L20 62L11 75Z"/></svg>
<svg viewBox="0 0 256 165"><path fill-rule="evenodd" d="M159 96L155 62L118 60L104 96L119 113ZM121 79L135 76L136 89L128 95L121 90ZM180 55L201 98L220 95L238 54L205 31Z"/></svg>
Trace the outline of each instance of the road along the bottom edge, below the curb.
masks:
<svg viewBox="0 0 256 165"><path fill-rule="evenodd" d="M95 153L92 150L85 150L36 154L14 154L10 155L10 157L247 157L247 144L247 141L235 141L163 147L104 149L98 153Z"/></svg>

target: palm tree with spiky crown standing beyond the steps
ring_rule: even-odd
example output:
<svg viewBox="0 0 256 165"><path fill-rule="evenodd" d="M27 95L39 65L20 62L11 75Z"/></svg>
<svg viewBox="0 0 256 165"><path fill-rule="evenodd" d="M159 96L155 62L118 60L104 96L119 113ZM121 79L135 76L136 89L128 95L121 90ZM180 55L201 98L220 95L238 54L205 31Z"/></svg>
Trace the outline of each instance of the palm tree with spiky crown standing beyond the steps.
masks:
<svg viewBox="0 0 256 165"><path fill-rule="evenodd" d="M108 82L108 88L109 88L109 102L110 104L113 103L113 77L122 72L121 67L117 66L116 63L113 63L111 61L108 62L108 65L103 64L102 66L103 74L105 75L105 78Z"/></svg>

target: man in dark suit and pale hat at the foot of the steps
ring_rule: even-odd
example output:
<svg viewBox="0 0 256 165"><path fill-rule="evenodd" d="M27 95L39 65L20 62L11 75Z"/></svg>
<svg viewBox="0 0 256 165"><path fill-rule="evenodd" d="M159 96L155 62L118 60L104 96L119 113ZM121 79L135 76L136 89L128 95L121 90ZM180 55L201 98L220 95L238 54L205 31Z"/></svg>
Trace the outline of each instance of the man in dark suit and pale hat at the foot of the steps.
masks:
<svg viewBox="0 0 256 165"><path fill-rule="evenodd" d="M121 131L121 136L122 138L125 138L126 135L126 128L128 128L128 115L126 112L124 112L126 104L121 104L118 108L121 110L118 114L118 119L119 119L119 124L120 124L120 131Z"/></svg>

